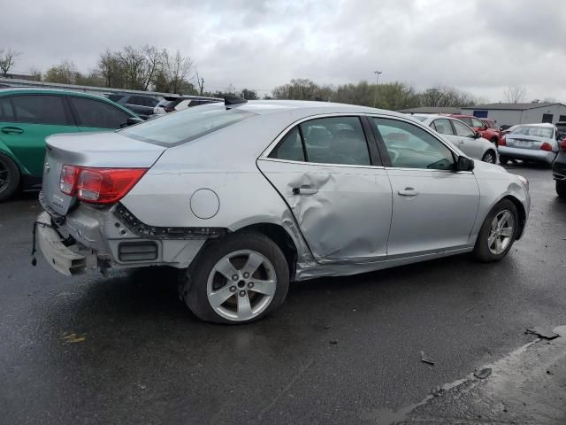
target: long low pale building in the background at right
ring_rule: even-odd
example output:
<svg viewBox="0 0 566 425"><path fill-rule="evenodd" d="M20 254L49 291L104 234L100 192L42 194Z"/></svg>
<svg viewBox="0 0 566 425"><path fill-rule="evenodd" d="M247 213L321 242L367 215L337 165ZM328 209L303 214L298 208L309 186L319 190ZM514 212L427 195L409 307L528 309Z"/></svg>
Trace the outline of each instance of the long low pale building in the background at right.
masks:
<svg viewBox="0 0 566 425"><path fill-rule="evenodd" d="M539 102L531 104L478 104L463 107L462 113L489 118L500 126L566 121L566 104Z"/></svg>

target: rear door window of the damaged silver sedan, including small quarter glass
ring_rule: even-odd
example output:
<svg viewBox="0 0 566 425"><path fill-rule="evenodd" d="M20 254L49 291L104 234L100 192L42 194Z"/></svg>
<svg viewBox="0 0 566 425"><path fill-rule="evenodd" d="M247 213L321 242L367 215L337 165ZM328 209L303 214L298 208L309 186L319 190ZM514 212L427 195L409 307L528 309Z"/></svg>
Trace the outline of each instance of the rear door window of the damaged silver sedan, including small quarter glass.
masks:
<svg viewBox="0 0 566 425"><path fill-rule="evenodd" d="M302 135L302 138L301 138ZM319 164L370 166L370 151L358 117L310 120L291 130L271 158Z"/></svg>

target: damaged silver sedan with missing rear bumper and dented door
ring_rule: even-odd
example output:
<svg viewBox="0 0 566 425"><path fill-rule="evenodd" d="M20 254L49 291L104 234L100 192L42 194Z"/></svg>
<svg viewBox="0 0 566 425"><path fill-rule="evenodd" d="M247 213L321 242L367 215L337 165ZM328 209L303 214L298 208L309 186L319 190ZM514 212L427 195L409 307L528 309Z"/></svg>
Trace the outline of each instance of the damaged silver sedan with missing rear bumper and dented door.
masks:
<svg viewBox="0 0 566 425"><path fill-rule="evenodd" d="M526 179L402 114L237 98L50 136L40 200L57 271L177 267L190 310L224 323L271 313L290 281L501 259L530 208Z"/></svg>

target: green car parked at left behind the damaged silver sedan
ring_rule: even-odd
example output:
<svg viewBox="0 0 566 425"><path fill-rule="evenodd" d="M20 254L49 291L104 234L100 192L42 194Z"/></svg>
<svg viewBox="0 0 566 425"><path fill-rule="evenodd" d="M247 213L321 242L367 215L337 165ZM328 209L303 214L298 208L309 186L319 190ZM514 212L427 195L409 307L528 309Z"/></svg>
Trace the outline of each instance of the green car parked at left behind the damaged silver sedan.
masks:
<svg viewBox="0 0 566 425"><path fill-rule="evenodd" d="M0 89L0 202L39 189L45 137L114 130L141 119L105 97L57 89Z"/></svg>

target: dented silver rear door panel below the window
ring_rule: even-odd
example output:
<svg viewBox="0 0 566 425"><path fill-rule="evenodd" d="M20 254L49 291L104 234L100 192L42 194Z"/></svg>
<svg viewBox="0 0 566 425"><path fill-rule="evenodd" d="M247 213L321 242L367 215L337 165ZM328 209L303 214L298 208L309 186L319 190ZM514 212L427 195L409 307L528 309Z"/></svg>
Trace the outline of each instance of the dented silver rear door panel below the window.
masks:
<svg viewBox="0 0 566 425"><path fill-rule="evenodd" d="M319 262L369 262L386 256L392 191L377 166L257 161L285 198Z"/></svg>

